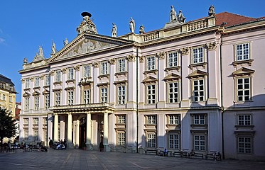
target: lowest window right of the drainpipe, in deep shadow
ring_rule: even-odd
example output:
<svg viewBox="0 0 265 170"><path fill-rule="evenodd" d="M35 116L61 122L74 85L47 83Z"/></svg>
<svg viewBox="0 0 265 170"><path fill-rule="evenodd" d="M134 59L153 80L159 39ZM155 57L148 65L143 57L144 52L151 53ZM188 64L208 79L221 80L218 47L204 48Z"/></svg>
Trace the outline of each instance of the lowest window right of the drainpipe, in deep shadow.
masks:
<svg viewBox="0 0 265 170"><path fill-rule="evenodd" d="M252 137L237 137L237 147L240 154L252 154Z"/></svg>

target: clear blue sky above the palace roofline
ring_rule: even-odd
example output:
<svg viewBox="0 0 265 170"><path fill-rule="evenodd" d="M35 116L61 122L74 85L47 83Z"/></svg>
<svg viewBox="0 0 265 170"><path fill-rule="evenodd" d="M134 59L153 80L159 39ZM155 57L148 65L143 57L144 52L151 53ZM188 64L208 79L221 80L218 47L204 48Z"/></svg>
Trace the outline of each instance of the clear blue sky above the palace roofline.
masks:
<svg viewBox="0 0 265 170"><path fill-rule="evenodd" d="M9 77L15 84L16 101L21 101L21 75L23 58L31 62L43 46L45 58L50 57L53 40L56 49L63 47L63 40L69 42L77 36L76 28L82 21L80 13L92 13L97 32L111 36L112 23L117 25L117 35L129 33L130 17L145 31L163 28L169 21L171 5L180 9L186 21L207 16L210 5L215 13L224 11L242 16L259 18L265 16L265 1L261 0L9 0L0 1L0 74Z"/></svg>

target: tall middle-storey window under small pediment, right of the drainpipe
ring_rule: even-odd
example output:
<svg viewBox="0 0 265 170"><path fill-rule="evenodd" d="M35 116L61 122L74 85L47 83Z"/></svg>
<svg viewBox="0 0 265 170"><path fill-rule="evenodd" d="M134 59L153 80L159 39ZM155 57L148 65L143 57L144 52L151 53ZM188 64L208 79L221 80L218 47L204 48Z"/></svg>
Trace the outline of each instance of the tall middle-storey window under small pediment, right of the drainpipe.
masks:
<svg viewBox="0 0 265 170"><path fill-rule="evenodd" d="M237 79L237 101L250 101L250 78Z"/></svg>

